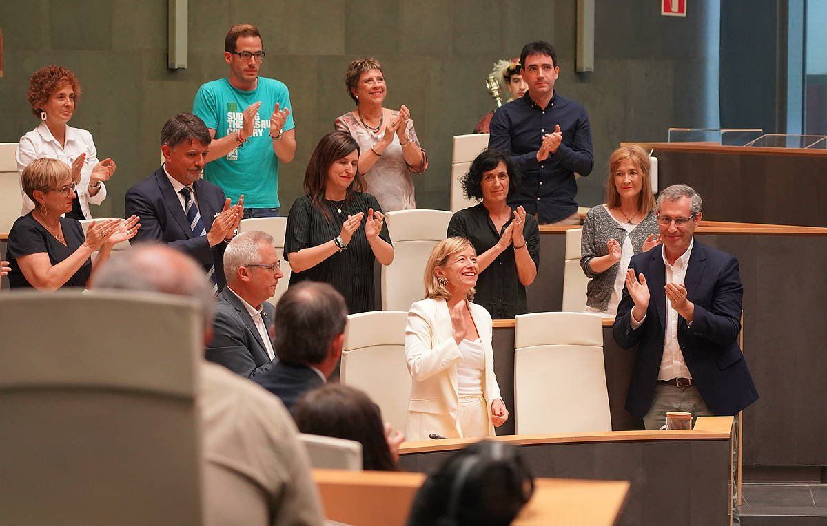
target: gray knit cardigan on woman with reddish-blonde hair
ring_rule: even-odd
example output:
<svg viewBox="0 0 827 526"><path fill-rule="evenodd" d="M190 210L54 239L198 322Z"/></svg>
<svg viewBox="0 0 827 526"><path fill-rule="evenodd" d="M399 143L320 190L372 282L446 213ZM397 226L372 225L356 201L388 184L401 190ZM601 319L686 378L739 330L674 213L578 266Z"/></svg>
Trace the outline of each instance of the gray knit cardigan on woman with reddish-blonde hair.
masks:
<svg viewBox="0 0 827 526"><path fill-rule="evenodd" d="M649 212L648 216L644 217L629 233L634 254L643 252L643 241L650 234L657 235L657 218L654 211ZM609 249L606 248L609 239L617 239L620 246L623 246L625 237L626 230L618 225L612 216L609 216L609 211L603 205L592 208L586 214L586 220L583 220L580 266L586 277L590 277L586 305L593 309L605 312L609 307L609 299L612 297L614 279L618 275L619 265L614 263L603 273L597 274L592 272L589 262L592 258L609 254Z"/></svg>

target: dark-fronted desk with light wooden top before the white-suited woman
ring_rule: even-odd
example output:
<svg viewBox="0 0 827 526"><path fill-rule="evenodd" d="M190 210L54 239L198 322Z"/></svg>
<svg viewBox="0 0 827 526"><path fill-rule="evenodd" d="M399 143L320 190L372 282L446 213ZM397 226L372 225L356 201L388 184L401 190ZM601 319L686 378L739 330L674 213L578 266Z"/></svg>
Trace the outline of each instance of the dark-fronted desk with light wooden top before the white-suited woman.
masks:
<svg viewBox="0 0 827 526"><path fill-rule="evenodd" d="M686 431L495 439L519 446L534 476L629 481L631 490L619 524L724 526L729 524L732 424L732 417L719 416L699 418L696 428ZM431 473L454 451L474 441L452 438L404 443L399 463L406 470Z"/></svg>

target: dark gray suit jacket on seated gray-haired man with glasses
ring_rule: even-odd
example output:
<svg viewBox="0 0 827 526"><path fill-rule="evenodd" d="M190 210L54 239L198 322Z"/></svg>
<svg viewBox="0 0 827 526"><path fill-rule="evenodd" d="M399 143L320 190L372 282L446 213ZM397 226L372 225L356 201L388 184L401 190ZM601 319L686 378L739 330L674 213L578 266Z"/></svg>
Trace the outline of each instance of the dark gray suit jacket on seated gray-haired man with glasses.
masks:
<svg viewBox="0 0 827 526"><path fill-rule="evenodd" d="M273 326L275 307L269 301L261 304L264 325L268 334ZM252 378L270 368L270 355L261 339L256 323L244 304L229 287L218 294L213 341L207 347L205 357L227 367L241 376Z"/></svg>

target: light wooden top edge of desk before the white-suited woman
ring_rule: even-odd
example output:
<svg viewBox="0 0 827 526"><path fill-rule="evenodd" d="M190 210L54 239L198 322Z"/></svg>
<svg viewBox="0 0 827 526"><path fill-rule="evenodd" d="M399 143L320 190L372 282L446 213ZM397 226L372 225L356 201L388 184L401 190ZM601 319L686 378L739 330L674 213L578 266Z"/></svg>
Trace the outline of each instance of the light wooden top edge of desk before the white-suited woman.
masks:
<svg viewBox="0 0 827 526"><path fill-rule="evenodd" d="M642 440L727 440L732 428L732 417L706 417L707 419L724 419L726 422L705 421L704 429L686 429L672 431L606 431L602 433L583 434L542 434L542 435L504 435L492 439L510 443L515 446L536 446L551 443L597 443L597 442L637 442ZM699 418L700 419L700 418ZM696 426L697 427L697 426ZM433 451L452 451L465 448L479 438L447 438L445 440L423 440L405 442L399 446L399 454L428 453Z"/></svg>

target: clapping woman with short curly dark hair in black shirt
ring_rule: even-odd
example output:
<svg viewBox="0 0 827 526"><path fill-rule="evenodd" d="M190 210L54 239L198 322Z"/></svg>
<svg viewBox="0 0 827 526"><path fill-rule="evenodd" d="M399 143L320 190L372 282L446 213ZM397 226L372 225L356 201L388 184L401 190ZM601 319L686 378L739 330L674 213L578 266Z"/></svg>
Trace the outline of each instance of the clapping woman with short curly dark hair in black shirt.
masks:
<svg viewBox="0 0 827 526"><path fill-rule="evenodd" d="M522 206L508 198L517 192L517 173L509 156L486 150L476 156L462 178L469 199L479 205L458 211L448 224L448 237L471 239L480 266L474 302L495 320L528 312L525 287L534 282L540 264L540 230Z"/></svg>

